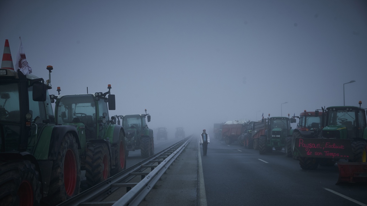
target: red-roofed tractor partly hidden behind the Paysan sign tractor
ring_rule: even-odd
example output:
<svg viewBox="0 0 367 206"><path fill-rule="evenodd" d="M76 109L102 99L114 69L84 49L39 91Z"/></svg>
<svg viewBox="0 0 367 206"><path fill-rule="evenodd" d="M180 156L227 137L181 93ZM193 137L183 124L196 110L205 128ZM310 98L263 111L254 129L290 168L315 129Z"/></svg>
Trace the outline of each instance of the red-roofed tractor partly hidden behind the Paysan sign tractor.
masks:
<svg viewBox="0 0 367 206"><path fill-rule="evenodd" d="M323 114L323 112L321 112ZM294 152L294 145L296 138L320 138L323 115L315 116L315 111L306 111L299 114L299 117L294 116L293 119L298 118L299 122L297 128L293 130L292 137L287 137L286 147L284 150L287 157L292 157ZM294 157L296 159L297 157Z"/></svg>

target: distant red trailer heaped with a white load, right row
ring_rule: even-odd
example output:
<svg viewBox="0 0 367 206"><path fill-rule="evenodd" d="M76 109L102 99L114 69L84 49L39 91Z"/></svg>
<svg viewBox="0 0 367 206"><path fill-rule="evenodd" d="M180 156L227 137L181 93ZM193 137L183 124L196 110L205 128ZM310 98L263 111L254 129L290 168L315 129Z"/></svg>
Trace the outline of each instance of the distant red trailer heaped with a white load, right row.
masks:
<svg viewBox="0 0 367 206"><path fill-rule="evenodd" d="M248 123L244 124L224 124L222 126L222 137L226 144L232 144L245 132L247 132Z"/></svg>

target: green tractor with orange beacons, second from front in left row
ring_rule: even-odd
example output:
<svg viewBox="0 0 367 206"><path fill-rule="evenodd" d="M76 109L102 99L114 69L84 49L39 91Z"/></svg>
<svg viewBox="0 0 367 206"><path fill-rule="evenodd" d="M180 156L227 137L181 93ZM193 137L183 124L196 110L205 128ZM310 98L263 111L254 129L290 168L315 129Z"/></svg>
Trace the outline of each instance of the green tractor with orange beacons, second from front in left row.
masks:
<svg viewBox="0 0 367 206"><path fill-rule="evenodd" d="M111 85L107 88L105 93L51 95L56 100L56 124L77 130L80 167L86 170L88 187L126 169L125 131L115 124L115 117L109 119L108 110L115 110L116 104L115 95L110 93ZM61 91L59 87L57 91Z"/></svg>

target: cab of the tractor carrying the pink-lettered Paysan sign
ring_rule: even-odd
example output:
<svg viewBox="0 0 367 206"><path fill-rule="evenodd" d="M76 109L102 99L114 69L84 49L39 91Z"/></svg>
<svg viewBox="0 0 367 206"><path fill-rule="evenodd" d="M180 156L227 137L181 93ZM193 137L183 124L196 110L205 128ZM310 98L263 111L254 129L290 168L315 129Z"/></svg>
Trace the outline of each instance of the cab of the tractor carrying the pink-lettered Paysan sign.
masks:
<svg viewBox="0 0 367 206"><path fill-rule="evenodd" d="M366 111L355 106L328 107L324 138L366 139Z"/></svg>

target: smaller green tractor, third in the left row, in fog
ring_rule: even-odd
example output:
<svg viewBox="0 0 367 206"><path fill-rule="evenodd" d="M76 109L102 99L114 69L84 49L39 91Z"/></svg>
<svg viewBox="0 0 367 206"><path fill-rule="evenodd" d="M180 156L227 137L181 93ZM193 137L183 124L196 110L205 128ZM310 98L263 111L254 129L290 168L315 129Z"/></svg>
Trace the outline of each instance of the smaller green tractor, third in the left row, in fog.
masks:
<svg viewBox="0 0 367 206"><path fill-rule="evenodd" d="M126 150L128 151L140 150L141 157L148 158L154 155L154 137L153 130L148 128L145 118L150 122L150 115L145 114L131 114L119 115L122 118L122 126L126 131ZM119 121L117 121L119 124Z"/></svg>

